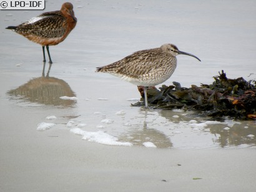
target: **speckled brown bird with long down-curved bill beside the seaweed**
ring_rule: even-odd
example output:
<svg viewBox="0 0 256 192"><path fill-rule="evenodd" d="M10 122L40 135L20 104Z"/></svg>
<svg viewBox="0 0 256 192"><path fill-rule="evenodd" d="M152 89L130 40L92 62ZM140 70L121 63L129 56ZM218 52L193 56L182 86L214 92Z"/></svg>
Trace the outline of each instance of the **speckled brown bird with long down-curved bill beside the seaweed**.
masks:
<svg viewBox="0 0 256 192"><path fill-rule="evenodd" d="M195 55L180 51L173 44L164 44L159 48L139 50L124 59L104 67L97 67L96 72L106 72L121 77L137 86L144 86L145 107L147 107L147 87L162 84L173 74L176 66L176 55Z"/></svg>

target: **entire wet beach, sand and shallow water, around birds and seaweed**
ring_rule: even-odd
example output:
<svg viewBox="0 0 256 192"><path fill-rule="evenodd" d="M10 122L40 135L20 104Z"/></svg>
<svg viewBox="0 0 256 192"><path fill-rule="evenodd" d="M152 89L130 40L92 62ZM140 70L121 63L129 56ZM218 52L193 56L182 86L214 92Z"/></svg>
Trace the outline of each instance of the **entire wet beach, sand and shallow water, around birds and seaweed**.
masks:
<svg viewBox="0 0 256 192"><path fill-rule="evenodd" d="M0 191L255 191L254 120L132 107L137 87L95 70L173 43L202 62L177 56L165 85L255 80L256 3L71 2L77 26L50 47L48 79L41 46L5 27L62 1L0 11Z"/></svg>

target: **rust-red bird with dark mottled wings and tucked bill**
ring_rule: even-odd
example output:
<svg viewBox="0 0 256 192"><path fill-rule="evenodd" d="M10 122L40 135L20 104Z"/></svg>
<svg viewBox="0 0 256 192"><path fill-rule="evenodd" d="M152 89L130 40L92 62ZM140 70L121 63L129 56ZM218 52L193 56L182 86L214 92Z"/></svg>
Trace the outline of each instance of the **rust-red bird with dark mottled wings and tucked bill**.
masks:
<svg viewBox="0 0 256 192"><path fill-rule="evenodd" d="M49 63L52 64L49 46L55 46L64 41L76 26L76 22L73 5L65 2L60 11L44 12L19 26L9 26L6 29L12 29L30 41L41 44L44 62L46 62L44 52L44 47L46 47Z"/></svg>

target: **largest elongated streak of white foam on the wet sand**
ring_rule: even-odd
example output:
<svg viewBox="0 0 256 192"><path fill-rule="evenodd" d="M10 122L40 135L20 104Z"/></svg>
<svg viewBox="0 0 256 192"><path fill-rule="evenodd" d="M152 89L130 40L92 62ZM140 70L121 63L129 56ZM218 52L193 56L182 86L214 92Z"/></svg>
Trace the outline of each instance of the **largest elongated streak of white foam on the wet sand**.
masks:
<svg viewBox="0 0 256 192"><path fill-rule="evenodd" d="M102 131L86 132L81 128L72 128L70 131L76 135L82 135L82 139L89 142L96 142L104 145L132 146L132 143L129 142L118 142L118 138Z"/></svg>

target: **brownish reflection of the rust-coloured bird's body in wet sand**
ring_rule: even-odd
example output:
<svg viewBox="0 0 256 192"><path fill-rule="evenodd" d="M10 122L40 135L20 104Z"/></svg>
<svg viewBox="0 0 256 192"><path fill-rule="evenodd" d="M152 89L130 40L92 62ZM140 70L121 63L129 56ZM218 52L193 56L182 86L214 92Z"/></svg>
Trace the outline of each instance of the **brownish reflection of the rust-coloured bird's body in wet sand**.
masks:
<svg viewBox="0 0 256 192"><path fill-rule="evenodd" d="M17 89L9 90L7 94L14 99L25 100L44 105L72 107L76 100L63 100L60 97L76 97L67 82L55 77L37 77L29 80Z"/></svg>

